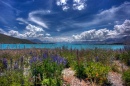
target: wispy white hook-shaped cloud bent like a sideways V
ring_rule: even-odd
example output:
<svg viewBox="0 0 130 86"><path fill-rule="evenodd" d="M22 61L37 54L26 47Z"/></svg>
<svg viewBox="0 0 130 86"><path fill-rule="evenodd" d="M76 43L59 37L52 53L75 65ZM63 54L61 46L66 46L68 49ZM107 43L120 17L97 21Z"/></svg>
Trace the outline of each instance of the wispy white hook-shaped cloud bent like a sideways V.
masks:
<svg viewBox="0 0 130 86"><path fill-rule="evenodd" d="M42 26L43 28L47 28L48 29L48 26L47 24L42 20L42 18L40 18L39 16L37 15L47 15L47 14L50 14L50 10L38 10L38 11L33 11L33 12L30 12L29 13L29 20Z"/></svg>

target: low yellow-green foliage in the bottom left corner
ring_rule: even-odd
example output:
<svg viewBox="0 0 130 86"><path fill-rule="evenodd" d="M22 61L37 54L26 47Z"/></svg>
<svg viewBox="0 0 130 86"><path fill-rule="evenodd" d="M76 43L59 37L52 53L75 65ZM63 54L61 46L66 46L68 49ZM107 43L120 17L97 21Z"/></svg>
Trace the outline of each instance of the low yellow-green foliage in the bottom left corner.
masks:
<svg viewBox="0 0 130 86"><path fill-rule="evenodd" d="M22 84L30 85L20 71L7 71L0 77L0 85L2 86L21 86Z"/></svg>

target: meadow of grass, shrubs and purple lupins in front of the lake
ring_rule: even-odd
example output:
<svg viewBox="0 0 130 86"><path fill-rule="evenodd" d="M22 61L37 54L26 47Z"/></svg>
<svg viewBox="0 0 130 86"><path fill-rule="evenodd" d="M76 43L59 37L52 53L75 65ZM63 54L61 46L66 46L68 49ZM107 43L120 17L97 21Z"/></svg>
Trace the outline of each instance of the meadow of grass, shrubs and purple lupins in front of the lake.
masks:
<svg viewBox="0 0 130 86"><path fill-rule="evenodd" d="M92 83L104 85L108 83L108 72L117 71L112 65L113 60L118 58L127 64L128 55L129 50L97 48L0 50L0 84L62 86L61 72L64 68L71 67L78 78L87 78ZM24 68L29 68L26 76Z"/></svg>

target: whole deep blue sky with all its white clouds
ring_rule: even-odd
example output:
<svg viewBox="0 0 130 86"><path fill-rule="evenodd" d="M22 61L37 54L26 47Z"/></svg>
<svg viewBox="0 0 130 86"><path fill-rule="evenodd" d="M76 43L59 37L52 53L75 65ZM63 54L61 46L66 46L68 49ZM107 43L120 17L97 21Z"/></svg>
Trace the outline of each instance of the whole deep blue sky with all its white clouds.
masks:
<svg viewBox="0 0 130 86"><path fill-rule="evenodd" d="M130 0L0 0L0 33L70 42L130 35Z"/></svg>

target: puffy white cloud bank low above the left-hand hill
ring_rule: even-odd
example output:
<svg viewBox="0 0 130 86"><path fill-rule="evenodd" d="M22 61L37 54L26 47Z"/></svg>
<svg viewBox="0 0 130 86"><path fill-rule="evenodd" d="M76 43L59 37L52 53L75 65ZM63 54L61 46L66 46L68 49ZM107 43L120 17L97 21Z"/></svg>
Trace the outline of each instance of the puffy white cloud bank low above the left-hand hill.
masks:
<svg viewBox="0 0 130 86"><path fill-rule="evenodd" d="M49 33L46 33L41 27L32 24L28 24L23 32L19 32L16 30L9 30L8 32L6 32L3 29L0 29L0 33L23 39L40 39L45 36L51 36Z"/></svg>

